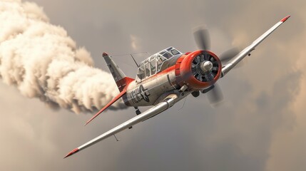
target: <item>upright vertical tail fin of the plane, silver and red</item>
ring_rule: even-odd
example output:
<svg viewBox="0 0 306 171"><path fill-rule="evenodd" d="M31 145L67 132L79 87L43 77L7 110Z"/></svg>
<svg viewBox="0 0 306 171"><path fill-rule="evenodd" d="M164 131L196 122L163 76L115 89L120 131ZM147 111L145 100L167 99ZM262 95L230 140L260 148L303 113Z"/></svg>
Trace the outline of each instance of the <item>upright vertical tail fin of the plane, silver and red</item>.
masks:
<svg viewBox="0 0 306 171"><path fill-rule="evenodd" d="M116 84L118 86L119 91L123 91L123 89L132 81L134 81L133 78L129 78L121 71L121 68L117 66L117 64L111 59L110 56L108 56L107 53L103 53L103 58L106 61L106 64L111 71L111 75L113 76L113 79L116 81Z"/></svg>

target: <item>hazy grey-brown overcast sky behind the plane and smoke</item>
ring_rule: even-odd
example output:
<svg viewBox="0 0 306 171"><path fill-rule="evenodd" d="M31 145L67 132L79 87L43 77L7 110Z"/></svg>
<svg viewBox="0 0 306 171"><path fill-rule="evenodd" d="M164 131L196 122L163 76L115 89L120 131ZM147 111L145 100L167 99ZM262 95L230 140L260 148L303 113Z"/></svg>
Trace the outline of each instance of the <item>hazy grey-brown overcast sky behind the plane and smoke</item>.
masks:
<svg viewBox="0 0 306 171"><path fill-rule="evenodd" d="M306 170L305 1L34 2L105 71L103 51L195 51L192 28L205 24L212 51L220 54L291 18L243 68L220 80L220 108L211 108L205 95L190 96L185 105L119 133L121 141L108 138L65 160L73 148L135 116L133 108L108 110L83 127L89 113L52 110L0 81L0 170ZM113 59L136 75L131 58Z"/></svg>

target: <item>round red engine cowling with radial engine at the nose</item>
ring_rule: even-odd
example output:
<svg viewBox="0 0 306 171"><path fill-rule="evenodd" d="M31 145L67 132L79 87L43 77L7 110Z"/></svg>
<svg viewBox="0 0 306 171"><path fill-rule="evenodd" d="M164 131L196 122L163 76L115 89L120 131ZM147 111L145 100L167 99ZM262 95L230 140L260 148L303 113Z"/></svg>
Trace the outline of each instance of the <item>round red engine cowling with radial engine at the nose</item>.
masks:
<svg viewBox="0 0 306 171"><path fill-rule="evenodd" d="M194 51L178 58L175 63L176 83L190 90L201 90L213 85L220 78L222 64L211 51Z"/></svg>

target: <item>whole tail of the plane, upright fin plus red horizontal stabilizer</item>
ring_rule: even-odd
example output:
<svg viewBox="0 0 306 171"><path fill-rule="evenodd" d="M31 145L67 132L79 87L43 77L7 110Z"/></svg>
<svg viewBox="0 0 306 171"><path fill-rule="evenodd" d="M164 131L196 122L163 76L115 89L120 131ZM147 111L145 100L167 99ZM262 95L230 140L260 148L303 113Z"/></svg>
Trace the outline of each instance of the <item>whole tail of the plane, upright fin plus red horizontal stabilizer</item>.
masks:
<svg viewBox="0 0 306 171"><path fill-rule="evenodd" d="M127 88L128 84L131 83L132 81L134 81L133 78L127 77L126 74L124 74L121 71L121 69L116 65L116 63L111 59L111 57L108 56L107 53L104 52L102 56L105 59L109 70L111 71L111 75L113 76L113 79L116 81L116 84L118 86L118 89L119 89L120 93L115 98L113 98L113 100L111 100L111 102L109 102L106 106L104 106L104 108L102 108L100 111L98 111L98 113L96 113L96 115L93 115L93 117L90 120L88 120L85 123L85 125L90 123L91 120L96 118L98 115L100 115L100 113L102 113L109 106L111 106L113 103L115 103L117 100L119 100L123 95L125 95L126 94L126 88Z"/></svg>

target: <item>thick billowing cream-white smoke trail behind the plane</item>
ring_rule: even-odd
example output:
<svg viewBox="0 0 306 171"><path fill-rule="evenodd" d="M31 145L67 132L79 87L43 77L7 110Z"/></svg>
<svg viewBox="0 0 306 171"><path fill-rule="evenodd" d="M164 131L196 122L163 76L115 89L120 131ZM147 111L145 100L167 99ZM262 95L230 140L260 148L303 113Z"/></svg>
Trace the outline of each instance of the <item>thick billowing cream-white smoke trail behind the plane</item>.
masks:
<svg viewBox="0 0 306 171"><path fill-rule="evenodd" d="M0 78L26 97L75 113L100 109L118 93L85 48L50 24L41 7L20 0L0 1Z"/></svg>

